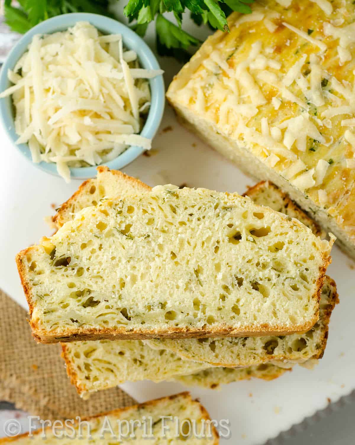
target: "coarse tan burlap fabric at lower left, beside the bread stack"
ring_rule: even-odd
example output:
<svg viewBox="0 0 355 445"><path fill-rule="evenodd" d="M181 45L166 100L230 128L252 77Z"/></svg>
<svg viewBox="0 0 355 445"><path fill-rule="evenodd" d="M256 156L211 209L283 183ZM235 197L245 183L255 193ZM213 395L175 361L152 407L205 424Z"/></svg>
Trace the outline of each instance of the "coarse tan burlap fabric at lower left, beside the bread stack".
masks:
<svg viewBox="0 0 355 445"><path fill-rule="evenodd" d="M37 344L26 311L0 290L0 400L56 420L87 417L135 403L111 388L82 400L66 375L59 344Z"/></svg>

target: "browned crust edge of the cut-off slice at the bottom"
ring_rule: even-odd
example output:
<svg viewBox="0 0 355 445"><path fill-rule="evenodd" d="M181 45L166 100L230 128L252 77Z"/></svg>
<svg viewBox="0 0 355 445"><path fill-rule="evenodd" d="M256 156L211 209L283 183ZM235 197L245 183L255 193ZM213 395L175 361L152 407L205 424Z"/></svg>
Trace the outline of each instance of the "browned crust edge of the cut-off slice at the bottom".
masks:
<svg viewBox="0 0 355 445"><path fill-rule="evenodd" d="M207 420L211 420L211 417L209 416L207 409L205 409L204 406L201 405L200 402L197 399L193 400L192 397L191 397L190 392L184 391L184 392L180 392L178 394L173 394L171 396L160 397L158 399L150 400L150 401L139 403L139 404L132 405L132 406L127 406L125 408L118 408L118 409L114 409L113 411L107 411L107 412L104 412L104 413L95 414L94 416L84 417L84 418L81 419L81 421L90 421L90 420L96 419L98 417L119 415L119 414L122 414L122 413L124 413L126 411L133 410L133 409L145 409L145 408L147 408L149 406L158 405L159 402L161 402L161 401L174 400L177 397L184 397L184 399L187 402L197 403L199 405L199 408L200 408L201 419L204 419L206 421ZM51 427L46 428L47 431L49 431L50 429L51 429ZM37 429L36 431L33 431L33 436L36 436L37 434L39 434L41 432L42 432L41 429ZM212 433L212 436L213 436L213 441L211 442L211 445L218 445L218 443L219 443L219 435L218 435L218 432L217 432L213 422L212 422L211 433ZM28 437L27 433L20 434L20 435L18 435L16 437L4 437L4 438L0 439L0 444L2 444L2 443L9 443L9 442L15 442L18 439L26 438L26 437Z"/></svg>

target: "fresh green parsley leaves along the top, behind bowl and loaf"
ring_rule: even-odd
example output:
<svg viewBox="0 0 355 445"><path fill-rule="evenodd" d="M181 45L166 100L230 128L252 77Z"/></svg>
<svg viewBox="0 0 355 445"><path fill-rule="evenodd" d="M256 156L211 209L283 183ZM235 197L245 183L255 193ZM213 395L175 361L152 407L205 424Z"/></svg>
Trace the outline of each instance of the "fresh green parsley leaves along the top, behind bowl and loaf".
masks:
<svg viewBox="0 0 355 445"><path fill-rule="evenodd" d="M122 0L121 0L122 1ZM208 24L212 29L229 31L226 17L232 11L249 14L254 0L129 0L124 13L131 28L143 37L148 24L155 20L156 44L161 56L172 56L186 61L191 46L200 41L182 29L184 12L190 12L197 24ZM20 7L12 6L12 0L4 2L6 23L16 32L24 33L50 17L67 12L94 12L110 15L109 0L19 0ZM164 13L172 12L176 24Z"/></svg>

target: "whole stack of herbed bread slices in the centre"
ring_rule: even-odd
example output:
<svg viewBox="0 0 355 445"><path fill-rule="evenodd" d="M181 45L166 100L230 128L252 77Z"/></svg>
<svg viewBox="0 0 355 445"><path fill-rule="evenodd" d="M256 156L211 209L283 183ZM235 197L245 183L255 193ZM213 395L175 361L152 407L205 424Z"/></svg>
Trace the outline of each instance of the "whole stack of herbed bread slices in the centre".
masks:
<svg viewBox="0 0 355 445"><path fill-rule="evenodd" d="M330 241L270 182L244 196L151 189L98 167L16 258L33 336L79 394L124 381L216 388L323 356Z"/></svg>

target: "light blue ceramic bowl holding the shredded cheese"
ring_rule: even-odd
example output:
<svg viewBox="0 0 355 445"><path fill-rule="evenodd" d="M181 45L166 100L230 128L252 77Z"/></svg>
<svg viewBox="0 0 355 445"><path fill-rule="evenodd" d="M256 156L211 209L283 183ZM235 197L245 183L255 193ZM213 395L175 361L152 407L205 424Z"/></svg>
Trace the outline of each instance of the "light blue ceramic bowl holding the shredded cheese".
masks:
<svg viewBox="0 0 355 445"><path fill-rule="evenodd" d="M8 54L8 57L0 71L0 91L4 91L11 86L11 83L7 77L8 69L14 68L16 62L27 50L28 45L35 34L51 34L57 31L65 31L67 28L72 27L79 21L90 22L103 34L121 34L124 46L127 49L133 49L137 53L139 63L142 68L159 69L158 61L147 44L130 28L122 23L119 23L117 20L86 12L63 14L61 16L56 16L41 22L26 32L26 34L24 34L24 36L17 42L15 47ZM156 76L153 79L150 79L149 84L151 88L151 106L147 116L147 121L145 122L140 134L145 138L151 139L157 132L160 121L163 117L165 104L163 76ZM58 175L56 164L47 162L34 164L32 162L29 146L27 144L15 144L18 135L16 134L14 128L14 111L11 96L0 99L0 116L4 129L9 138L12 140L16 149L20 150L20 153L23 154L25 158L27 158L33 165L39 167L41 170L44 170L50 174ZM107 165L110 169L119 170L132 162L135 158L142 154L143 151L144 149L142 147L130 146L125 152L120 154L114 160L107 162L105 165ZM71 168L70 172L73 178L92 178L96 176L96 166Z"/></svg>

